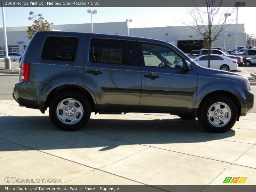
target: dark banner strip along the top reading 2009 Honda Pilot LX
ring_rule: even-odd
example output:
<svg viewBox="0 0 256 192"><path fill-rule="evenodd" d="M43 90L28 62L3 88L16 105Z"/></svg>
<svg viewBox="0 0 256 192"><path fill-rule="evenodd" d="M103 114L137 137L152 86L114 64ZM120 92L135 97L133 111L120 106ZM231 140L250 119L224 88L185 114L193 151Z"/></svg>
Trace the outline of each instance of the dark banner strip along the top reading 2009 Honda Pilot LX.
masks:
<svg viewBox="0 0 256 192"><path fill-rule="evenodd" d="M216 6L234 7L238 0L215 0ZM241 0L256 7L255 0ZM206 7L205 0L0 0L4 7Z"/></svg>

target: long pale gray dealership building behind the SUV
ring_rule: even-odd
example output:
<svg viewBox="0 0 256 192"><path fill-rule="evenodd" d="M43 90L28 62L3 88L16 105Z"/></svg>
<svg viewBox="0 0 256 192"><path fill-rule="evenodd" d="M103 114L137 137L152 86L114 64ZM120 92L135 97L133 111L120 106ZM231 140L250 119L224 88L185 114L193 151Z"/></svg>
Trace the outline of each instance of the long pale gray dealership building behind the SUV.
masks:
<svg viewBox="0 0 256 192"><path fill-rule="evenodd" d="M207 27L207 26L206 26ZM29 42L28 27L7 27L7 44L9 52L24 52ZM91 33L91 23L83 24L66 24L52 25L52 30L74 31ZM226 49L235 49L236 46L236 24L229 25L226 29ZM118 34L127 35L127 23L110 22L110 23L93 23L94 33L102 34ZM193 32L188 26L167 26L153 28L130 28L130 36L147 37L159 39L169 42L183 52L203 48L202 36ZM224 48L224 33L213 43L214 47ZM244 24L237 26L237 46L246 46L246 33L244 32ZM4 56L4 33L3 28L0 28L0 57Z"/></svg>

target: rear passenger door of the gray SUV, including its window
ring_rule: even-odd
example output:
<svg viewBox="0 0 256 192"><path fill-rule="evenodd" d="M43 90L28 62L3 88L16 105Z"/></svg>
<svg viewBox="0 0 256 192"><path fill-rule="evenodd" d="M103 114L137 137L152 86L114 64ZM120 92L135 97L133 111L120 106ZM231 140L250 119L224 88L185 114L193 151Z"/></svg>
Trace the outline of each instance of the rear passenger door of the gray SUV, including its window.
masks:
<svg viewBox="0 0 256 192"><path fill-rule="evenodd" d="M141 70L136 40L91 38L84 65L84 85L97 102L98 111L137 111Z"/></svg>

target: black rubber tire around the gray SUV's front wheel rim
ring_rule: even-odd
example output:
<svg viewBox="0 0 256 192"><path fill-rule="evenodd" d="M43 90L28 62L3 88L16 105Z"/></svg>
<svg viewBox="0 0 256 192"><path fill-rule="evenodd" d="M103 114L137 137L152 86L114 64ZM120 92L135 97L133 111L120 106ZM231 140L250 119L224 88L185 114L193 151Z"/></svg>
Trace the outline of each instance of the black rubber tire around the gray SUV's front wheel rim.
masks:
<svg viewBox="0 0 256 192"><path fill-rule="evenodd" d="M229 120L228 124L222 126L222 127L216 127L213 126L209 120L208 120L208 110L212 106L212 104L217 103L217 102L222 102L228 105L228 107L231 110L231 119ZM226 96L215 96L208 98L207 100L202 103L202 106L198 109L198 121L202 125L202 127L208 131L211 132L226 132L229 129L231 129L234 124L236 123L237 119L237 107L235 103L230 100Z"/></svg>

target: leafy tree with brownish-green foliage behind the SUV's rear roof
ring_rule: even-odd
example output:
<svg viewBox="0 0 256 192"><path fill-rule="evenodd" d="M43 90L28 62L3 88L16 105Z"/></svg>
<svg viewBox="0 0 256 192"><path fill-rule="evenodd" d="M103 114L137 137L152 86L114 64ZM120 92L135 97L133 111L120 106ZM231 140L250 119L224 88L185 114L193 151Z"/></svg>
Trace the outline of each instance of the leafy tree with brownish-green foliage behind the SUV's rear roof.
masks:
<svg viewBox="0 0 256 192"><path fill-rule="evenodd" d="M44 20L41 13L34 15L34 12L31 11L29 12L29 15L28 20L33 21L33 24L28 26L28 39L31 39L37 31L50 31L50 23L47 20Z"/></svg>

